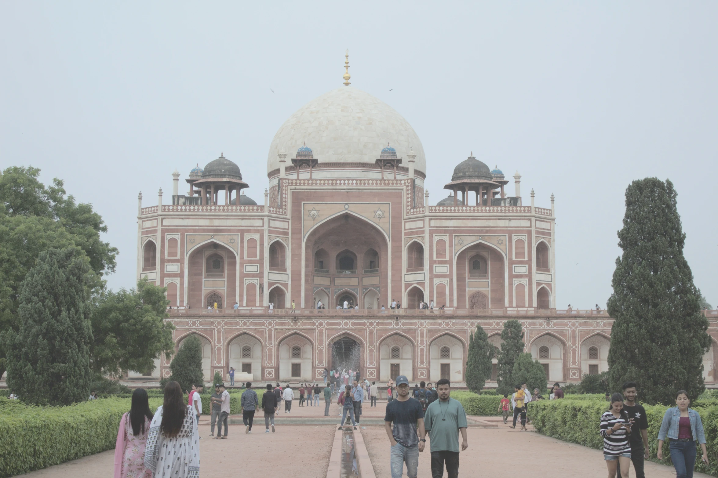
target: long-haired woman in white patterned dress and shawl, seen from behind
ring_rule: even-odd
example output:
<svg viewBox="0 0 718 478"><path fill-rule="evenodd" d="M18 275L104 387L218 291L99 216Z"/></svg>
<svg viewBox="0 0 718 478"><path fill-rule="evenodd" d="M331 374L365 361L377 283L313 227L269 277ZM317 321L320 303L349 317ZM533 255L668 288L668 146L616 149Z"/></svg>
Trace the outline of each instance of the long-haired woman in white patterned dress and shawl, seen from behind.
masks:
<svg viewBox="0 0 718 478"><path fill-rule="evenodd" d="M168 382L164 386L164 404L157 408L149 426L144 466L157 478L197 478L199 441L197 418L185 405L180 384Z"/></svg>

